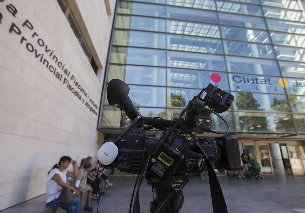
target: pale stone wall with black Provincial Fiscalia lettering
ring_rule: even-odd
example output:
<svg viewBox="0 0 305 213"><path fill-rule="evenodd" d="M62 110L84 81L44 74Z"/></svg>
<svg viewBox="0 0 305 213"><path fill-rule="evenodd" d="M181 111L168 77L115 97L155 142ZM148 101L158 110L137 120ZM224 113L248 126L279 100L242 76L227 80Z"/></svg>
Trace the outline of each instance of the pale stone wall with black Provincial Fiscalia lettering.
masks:
<svg viewBox="0 0 305 213"><path fill-rule="evenodd" d="M44 194L61 156L97 160L113 2L68 1L96 75L56 0L0 1L0 210Z"/></svg>

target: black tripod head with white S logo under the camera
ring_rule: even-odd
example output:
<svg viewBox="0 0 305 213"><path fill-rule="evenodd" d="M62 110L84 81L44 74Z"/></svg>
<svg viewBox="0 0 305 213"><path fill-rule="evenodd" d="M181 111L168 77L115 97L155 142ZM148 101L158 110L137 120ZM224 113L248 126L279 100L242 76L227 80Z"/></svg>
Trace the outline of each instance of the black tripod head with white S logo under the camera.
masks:
<svg viewBox="0 0 305 213"><path fill-rule="evenodd" d="M184 202L182 189L189 182L186 174L173 174L165 183L147 174L144 181L152 186L151 213L180 213Z"/></svg>

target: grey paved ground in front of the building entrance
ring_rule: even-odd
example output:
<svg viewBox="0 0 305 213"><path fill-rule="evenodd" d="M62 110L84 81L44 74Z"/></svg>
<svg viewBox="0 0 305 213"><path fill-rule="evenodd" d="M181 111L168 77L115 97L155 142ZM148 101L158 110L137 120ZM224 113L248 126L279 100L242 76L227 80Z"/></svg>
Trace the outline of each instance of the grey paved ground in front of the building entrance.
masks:
<svg viewBox="0 0 305 213"><path fill-rule="evenodd" d="M264 176L262 180L239 179L237 176L219 176L219 182L227 203L228 212L255 213L305 213L305 176ZM135 178L109 177L114 185L103 189L105 194L99 202L99 213L128 213ZM190 176L190 182L184 188L185 202L181 213L212 213L212 201L208 177ZM142 213L149 213L152 201L151 187L145 182L140 188L140 206ZM39 212L36 205L44 205L45 195L16 205L1 213ZM32 204L31 204L32 203ZM27 208L30 205L31 208ZM97 201L92 199L91 206L97 212ZM27 209L31 209L27 211ZM84 210L81 213L87 212Z"/></svg>

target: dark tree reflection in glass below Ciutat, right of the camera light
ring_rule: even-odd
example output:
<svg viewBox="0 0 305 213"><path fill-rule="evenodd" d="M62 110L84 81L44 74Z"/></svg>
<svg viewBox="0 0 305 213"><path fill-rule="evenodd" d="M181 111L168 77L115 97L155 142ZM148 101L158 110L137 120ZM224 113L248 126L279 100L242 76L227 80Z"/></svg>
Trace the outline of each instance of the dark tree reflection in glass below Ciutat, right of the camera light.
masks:
<svg viewBox="0 0 305 213"><path fill-rule="evenodd" d="M257 103L252 93L238 93L236 100L238 110L262 111L263 108ZM248 131L267 131L267 120L265 117L257 116L239 116L240 129L243 132ZM251 129L250 129L251 127Z"/></svg>

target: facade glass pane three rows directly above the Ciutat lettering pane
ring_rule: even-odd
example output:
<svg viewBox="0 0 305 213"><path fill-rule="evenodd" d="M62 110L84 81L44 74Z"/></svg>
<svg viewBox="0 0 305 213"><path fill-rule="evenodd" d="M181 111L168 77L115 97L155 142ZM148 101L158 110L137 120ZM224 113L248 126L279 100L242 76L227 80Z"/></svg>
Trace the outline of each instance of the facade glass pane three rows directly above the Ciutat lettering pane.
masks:
<svg viewBox="0 0 305 213"><path fill-rule="evenodd" d="M269 33L263 30L221 26L221 33L223 38L260 43L271 43L271 40L269 39Z"/></svg>

